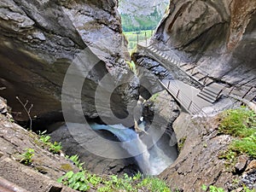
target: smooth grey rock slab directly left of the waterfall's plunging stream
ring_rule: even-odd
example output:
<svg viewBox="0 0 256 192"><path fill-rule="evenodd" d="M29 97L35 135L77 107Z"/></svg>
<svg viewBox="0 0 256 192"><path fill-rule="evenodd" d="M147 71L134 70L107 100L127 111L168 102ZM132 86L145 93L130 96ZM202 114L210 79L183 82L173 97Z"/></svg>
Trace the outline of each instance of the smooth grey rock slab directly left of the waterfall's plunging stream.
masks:
<svg viewBox="0 0 256 192"><path fill-rule="evenodd" d="M59 129L53 131L50 136L53 141L61 142L63 150L68 155L79 154L79 159L84 162L84 167L90 172L98 174L123 174L126 172L131 175L138 171L139 168L136 166L136 161L133 158L114 160L96 155L97 148L102 148L102 151L106 152L104 154L108 154L109 156L124 154L124 148L118 148L114 144L106 145L98 140L98 142L94 144L96 148L88 149L86 148L86 143L93 142L94 137L90 135L90 132L83 131L86 125L71 124L69 126L73 126L74 129L79 129L80 131L72 131L67 125L62 125ZM111 137L114 138L111 134L107 134L107 136L108 139ZM99 137L103 136L99 135ZM95 154L93 152L95 152Z"/></svg>

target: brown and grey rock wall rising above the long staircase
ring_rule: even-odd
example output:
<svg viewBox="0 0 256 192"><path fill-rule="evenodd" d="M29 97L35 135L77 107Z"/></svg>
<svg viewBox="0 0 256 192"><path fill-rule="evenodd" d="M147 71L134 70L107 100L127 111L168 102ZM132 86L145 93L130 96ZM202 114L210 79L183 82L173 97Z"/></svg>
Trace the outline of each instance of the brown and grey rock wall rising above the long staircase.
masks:
<svg viewBox="0 0 256 192"><path fill-rule="evenodd" d="M215 79L253 86L255 21L255 1L172 0L153 39Z"/></svg>

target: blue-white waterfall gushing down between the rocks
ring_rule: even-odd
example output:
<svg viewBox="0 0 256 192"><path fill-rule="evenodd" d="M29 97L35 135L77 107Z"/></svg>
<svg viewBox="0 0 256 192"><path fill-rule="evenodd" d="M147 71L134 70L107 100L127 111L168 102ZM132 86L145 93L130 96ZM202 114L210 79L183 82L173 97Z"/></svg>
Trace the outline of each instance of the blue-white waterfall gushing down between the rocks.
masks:
<svg viewBox="0 0 256 192"><path fill-rule="evenodd" d="M140 126L143 126L143 124ZM131 154L131 156L135 157L137 165L144 174L160 174L160 172L163 172L167 166L170 166L177 157L176 150L170 149L170 152L173 154L168 156L157 144L154 144L152 148L148 148L137 132L126 128L124 125L91 124L90 127L95 131L110 131L113 135L118 137L119 141L122 142L121 147ZM141 128L143 129L143 127Z"/></svg>

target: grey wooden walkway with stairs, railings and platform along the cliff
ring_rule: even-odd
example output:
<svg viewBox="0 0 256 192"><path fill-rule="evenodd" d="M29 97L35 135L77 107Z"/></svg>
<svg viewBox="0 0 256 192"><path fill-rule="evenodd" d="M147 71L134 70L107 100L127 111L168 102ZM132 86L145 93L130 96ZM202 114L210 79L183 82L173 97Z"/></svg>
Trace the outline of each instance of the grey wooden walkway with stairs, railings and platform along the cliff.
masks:
<svg viewBox="0 0 256 192"><path fill-rule="evenodd" d="M176 66L179 70L183 71L183 73L186 73L189 78L194 79L198 84L201 84L203 89L200 90L196 96L194 96L196 99L193 100L189 99L187 91L180 89L179 87L177 88L177 86L173 85L173 82L166 82L166 80L160 81L160 84L162 84L189 113L202 113L201 108L205 105L202 106L202 101L197 97L200 97L206 102L214 103L222 95L234 95L239 96L242 99L246 99L248 102L256 102L255 86L247 88L246 91L239 91L236 89L236 87L225 87L222 84L215 83L214 79L212 79L209 74L202 72L201 69L195 65L177 61L172 56L166 55L164 52L154 47L154 45L147 46L145 43L140 43L138 46L146 50L150 57L152 57L155 61L159 61L164 67L168 68L167 65L170 64L172 66ZM180 96L180 98L178 98L178 96Z"/></svg>

